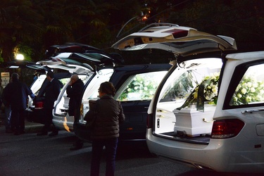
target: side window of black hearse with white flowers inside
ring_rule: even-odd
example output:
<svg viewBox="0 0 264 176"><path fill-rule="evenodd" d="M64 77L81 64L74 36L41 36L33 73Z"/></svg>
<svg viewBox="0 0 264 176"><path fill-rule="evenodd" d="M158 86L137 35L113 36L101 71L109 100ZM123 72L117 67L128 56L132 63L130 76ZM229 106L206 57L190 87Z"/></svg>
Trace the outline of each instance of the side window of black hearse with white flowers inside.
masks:
<svg viewBox="0 0 264 176"><path fill-rule="evenodd" d="M118 101L150 100L167 71L130 76L122 85ZM117 93L118 93L117 92Z"/></svg>

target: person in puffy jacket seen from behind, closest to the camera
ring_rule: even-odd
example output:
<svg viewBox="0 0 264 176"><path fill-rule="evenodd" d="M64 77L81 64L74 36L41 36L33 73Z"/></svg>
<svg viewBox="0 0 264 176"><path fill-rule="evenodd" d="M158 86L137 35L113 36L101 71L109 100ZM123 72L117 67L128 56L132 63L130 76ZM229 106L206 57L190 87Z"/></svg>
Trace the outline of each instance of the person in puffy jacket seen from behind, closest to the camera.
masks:
<svg viewBox="0 0 264 176"><path fill-rule="evenodd" d="M85 115L89 121L95 117L91 131L92 139L92 176L99 175L101 153L106 147L106 175L114 175L115 155L118 147L119 125L125 121L121 103L113 99L115 87L111 82L103 82L99 88L99 100L96 100L95 110L90 110Z"/></svg>

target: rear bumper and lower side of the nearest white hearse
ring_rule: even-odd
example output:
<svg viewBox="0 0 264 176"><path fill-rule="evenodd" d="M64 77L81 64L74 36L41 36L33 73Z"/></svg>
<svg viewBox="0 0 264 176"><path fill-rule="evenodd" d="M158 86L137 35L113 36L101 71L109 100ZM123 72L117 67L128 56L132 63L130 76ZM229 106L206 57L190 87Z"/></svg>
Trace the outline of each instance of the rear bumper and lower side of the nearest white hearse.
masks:
<svg viewBox="0 0 264 176"><path fill-rule="evenodd" d="M249 139L245 139L250 143ZM241 139L210 139L208 145L177 142L146 133L149 151L177 163L217 172L264 172L264 151L239 145Z"/></svg>

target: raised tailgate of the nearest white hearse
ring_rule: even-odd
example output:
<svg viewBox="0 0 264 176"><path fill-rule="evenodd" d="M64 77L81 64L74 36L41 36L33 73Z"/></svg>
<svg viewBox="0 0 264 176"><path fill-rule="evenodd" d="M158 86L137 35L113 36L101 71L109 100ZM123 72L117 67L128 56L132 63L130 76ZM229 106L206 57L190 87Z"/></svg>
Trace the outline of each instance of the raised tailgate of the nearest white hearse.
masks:
<svg viewBox="0 0 264 176"><path fill-rule="evenodd" d="M237 44L231 37L215 36L191 27L158 23L120 39L112 47L122 51L162 49L176 56L237 50Z"/></svg>

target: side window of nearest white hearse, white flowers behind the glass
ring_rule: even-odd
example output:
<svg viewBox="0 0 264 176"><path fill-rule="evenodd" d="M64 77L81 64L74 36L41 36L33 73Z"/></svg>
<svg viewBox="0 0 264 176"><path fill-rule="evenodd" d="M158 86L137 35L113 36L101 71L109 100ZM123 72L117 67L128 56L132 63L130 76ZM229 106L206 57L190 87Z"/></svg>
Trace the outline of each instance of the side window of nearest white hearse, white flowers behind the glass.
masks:
<svg viewBox="0 0 264 176"><path fill-rule="evenodd" d="M264 103L264 64L246 70L232 96L230 106Z"/></svg>

